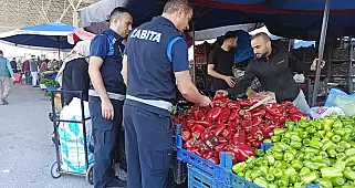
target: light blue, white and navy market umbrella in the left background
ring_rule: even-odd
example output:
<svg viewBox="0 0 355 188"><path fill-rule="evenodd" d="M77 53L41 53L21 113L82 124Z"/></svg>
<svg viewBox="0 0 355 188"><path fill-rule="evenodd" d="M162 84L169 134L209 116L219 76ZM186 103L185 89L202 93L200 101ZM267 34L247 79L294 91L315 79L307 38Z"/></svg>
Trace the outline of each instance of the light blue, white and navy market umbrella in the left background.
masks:
<svg viewBox="0 0 355 188"><path fill-rule="evenodd" d="M54 22L1 33L0 40L28 46L72 49L66 38L73 30L74 27Z"/></svg>

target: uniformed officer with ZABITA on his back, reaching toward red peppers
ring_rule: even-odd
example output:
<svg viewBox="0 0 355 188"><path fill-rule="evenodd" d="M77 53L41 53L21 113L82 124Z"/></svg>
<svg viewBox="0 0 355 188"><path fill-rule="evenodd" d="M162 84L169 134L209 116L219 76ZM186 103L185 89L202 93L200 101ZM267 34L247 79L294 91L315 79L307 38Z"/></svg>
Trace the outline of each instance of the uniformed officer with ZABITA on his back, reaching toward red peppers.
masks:
<svg viewBox="0 0 355 188"><path fill-rule="evenodd" d="M189 75L188 48L181 33L191 17L188 0L168 0L161 17L128 36L122 72L127 85L124 127L128 188L167 186L173 152L169 108L176 88L190 102L201 106L210 103Z"/></svg>

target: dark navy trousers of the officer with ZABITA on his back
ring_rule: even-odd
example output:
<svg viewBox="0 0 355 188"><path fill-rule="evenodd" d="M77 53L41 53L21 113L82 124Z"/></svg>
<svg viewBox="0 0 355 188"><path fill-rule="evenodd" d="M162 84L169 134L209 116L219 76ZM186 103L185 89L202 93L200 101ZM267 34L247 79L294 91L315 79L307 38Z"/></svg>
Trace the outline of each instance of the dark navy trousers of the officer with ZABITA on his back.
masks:
<svg viewBox="0 0 355 188"><path fill-rule="evenodd" d="M173 153L169 116L124 105L128 188L165 188Z"/></svg>

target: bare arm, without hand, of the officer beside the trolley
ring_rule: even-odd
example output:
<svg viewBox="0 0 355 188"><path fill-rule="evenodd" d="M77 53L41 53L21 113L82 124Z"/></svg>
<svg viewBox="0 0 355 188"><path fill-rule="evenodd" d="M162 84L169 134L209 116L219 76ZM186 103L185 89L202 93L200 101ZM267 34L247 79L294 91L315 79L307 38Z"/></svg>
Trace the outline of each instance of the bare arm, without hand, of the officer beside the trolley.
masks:
<svg viewBox="0 0 355 188"><path fill-rule="evenodd" d="M103 62L104 61L100 56L91 56L88 63L88 75L91 77L91 82L102 101L109 100L100 72Z"/></svg>

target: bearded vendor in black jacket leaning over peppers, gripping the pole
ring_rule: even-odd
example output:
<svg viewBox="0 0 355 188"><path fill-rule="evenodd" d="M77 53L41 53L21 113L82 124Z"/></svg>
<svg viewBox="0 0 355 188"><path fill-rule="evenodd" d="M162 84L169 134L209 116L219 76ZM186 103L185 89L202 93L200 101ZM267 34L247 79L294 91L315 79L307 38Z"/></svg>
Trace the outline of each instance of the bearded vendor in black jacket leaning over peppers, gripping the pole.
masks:
<svg viewBox="0 0 355 188"><path fill-rule="evenodd" d="M305 95L293 80L292 72L305 75L316 70L315 59L307 64L295 59L288 50L271 43L268 34L261 32L252 36L251 46L255 59L251 61L243 77L233 88L227 90L230 97L246 93L254 77L261 83L264 91L274 92L278 102L291 101L303 113L310 111ZM322 61L321 69L325 65Z"/></svg>

